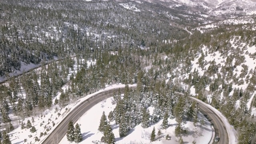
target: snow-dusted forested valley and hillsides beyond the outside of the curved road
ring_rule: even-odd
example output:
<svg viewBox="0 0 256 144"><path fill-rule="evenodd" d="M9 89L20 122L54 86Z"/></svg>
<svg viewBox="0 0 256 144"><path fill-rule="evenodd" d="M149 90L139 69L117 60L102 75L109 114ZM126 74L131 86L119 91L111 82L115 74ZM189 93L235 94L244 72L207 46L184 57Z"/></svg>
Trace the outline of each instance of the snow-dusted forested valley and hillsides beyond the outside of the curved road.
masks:
<svg viewBox="0 0 256 144"><path fill-rule="evenodd" d="M135 97L125 104L137 100L136 108L149 102L144 107L157 107L158 121L167 112L172 117L167 103L175 107L180 97L172 94L182 92L187 107L174 116L180 118L179 124L195 119L188 118L186 111L191 104L187 98L194 96L226 116L237 131L238 144L254 144L255 3L0 0L0 80L7 79L0 85L1 133L9 132L14 140L12 134L22 122L32 117L44 121L40 116L55 108L74 105L88 94L121 83L138 84L138 92L131 94ZM24 74L13 76L18 73ZM138 99L140 92L148 97ZM133 108L124 107L116 115ZM138 110L126 122L139 119ZM131 122L129 130L140 121ZM49 130L40 132L47 131L46 136ZM185 135L182 132L180 137ZM27 138L28 143L37 142L35 138Z"/></svg>

